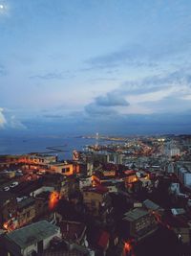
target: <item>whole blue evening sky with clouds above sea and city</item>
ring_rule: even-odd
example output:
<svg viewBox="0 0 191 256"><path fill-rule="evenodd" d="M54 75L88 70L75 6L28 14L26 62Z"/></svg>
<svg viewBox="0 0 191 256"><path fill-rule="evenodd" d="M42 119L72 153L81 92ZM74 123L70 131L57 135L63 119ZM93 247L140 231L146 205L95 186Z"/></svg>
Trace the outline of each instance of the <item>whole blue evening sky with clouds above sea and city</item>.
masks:
<svg viewBox="0 0 191 256"><path fill-rule="evenodd" d="M0 0L0 135L191 132L191 2Z"/></svg>

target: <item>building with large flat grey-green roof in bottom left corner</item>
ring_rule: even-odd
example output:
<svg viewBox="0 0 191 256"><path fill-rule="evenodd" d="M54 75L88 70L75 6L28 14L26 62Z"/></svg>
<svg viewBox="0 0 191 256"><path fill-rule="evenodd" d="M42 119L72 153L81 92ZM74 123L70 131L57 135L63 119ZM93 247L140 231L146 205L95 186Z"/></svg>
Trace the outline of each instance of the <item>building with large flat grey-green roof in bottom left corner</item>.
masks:
<svg viewBox="0 0 191 256"><path fill-rule="evenodd" d="M38 221L7 233L3 243L7 255L32 256L47 249L55 236L61 237L59 227L48 221Z"/></svg>

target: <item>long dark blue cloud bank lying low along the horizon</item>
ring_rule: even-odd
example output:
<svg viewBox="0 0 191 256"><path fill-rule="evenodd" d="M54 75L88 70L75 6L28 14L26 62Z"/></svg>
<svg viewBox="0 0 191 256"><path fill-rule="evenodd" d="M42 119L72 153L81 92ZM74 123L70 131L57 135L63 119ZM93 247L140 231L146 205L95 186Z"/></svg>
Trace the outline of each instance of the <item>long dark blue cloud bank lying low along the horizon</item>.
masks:
<svg viewBox="0 0 191 256"><path fill-rule="evenodd" d="M128 106L128 108L131 107ZM3 131L24 132L33 135L87 134L100 132L103 134L154 134L154 133L190 133L191 109L174 113L121 114L114 107L105 107L92 103L86 105L85 112L77 111L63 115L63 118L45 118L43 115L29 117L24 128L8 128ZM15 125L16 122L13 123ZM17 124L18 125L18 124ZM64 133L63 133L64 132ZM0 133L0 136L2 132Z"/></svg>

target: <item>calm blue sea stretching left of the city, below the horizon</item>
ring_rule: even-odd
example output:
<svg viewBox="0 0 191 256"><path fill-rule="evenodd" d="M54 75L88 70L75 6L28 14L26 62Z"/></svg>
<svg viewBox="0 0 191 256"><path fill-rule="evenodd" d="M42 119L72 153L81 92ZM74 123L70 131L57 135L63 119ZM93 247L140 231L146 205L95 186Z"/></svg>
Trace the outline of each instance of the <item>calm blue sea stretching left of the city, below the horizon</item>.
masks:
<svg viewBox="0 0 191 256"><path fill-rule="evenodd" d="M83 151L88 145L95 144L96 139L82 136L0 137L0 154L50 153L56 154L59 160L69 160L73 158L74 150Z"/></svg>

